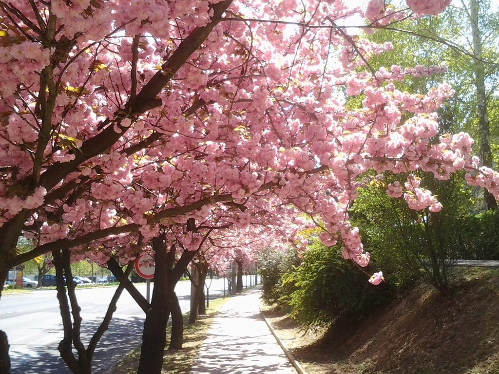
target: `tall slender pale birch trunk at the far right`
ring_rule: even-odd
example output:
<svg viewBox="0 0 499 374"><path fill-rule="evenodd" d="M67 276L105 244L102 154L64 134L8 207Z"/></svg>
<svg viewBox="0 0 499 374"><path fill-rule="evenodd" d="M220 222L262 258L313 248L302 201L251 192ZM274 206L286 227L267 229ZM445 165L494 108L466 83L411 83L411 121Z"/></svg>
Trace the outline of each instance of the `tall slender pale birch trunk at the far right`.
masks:
<svg viewBox="0 0 499 374"><path fill-rule="evenodd" d="M480 158L482 164L492 166L493 158L491 151L491 134L489 117L487 115L487 92L485 89L485 68L482 58L482 37L479 26L479 4L478 0L470 0L470 23L473 35L473 69L475 72L475 86L477 89L477 111L478 126L480 130ZM497 208L496 198L487 189L484 191L485 207L487 210Z"/></svg>

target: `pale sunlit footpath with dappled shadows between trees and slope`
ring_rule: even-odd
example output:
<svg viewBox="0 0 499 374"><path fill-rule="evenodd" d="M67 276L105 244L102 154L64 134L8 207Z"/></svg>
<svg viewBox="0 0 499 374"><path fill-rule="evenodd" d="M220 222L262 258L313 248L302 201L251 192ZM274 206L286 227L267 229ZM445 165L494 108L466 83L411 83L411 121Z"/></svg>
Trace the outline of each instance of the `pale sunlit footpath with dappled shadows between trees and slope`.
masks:
<svg viewBox="0 0 499 374"><path fill-rule="evenodd" d="M296 374L258 309L260 287L228 300L215 317L193 374Z"/></svg>

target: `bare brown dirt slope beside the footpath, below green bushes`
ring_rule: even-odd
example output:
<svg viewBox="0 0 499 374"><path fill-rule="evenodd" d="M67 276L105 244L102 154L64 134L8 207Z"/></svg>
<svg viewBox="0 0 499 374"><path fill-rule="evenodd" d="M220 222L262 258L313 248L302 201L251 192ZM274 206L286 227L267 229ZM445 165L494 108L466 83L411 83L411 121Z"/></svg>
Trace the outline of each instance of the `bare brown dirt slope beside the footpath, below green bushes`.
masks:
<svg viewBox="0 0 499 374"><path fill-rule="evenodd" d="M499 270L460 269L452 283L449 296L421 284L312 342L285 315L269 316L309 374L499 374Z"/></svg>

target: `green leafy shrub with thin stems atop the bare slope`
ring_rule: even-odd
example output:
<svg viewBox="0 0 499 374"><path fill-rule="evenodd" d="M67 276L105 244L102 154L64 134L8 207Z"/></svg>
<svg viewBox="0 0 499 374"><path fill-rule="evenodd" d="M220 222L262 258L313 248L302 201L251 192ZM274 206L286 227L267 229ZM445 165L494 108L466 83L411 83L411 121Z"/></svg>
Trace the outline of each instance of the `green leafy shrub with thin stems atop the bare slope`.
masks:
<svg viewBox="0 0 499 374"><path fill-rule="evenodd" d="M461 257L465 245L459 232L471 216L468 211L474 198L460 175L449 181L435 180L426 173L419 176L422 185L438 195L443 204L440 212L412 210L403 198L389 197L386 186L395 181L403 185L407 176L385 175L367 180L352 214L374 263L391 274L399 288L426 276L438 290L447 293L449 259Z"/></svg>

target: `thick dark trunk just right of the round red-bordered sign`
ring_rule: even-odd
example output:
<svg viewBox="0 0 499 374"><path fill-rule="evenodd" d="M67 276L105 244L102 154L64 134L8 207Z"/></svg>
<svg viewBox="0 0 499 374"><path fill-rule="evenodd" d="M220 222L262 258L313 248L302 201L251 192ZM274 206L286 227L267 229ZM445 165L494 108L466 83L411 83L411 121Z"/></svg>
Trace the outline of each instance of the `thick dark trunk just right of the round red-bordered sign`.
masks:
<svg viewBox="0 0 499 374"><path fill-rule="evenodd" d="M137 374L161 374L166 346L166 326L170 314L168 261L164 237L155 237L152 242L156 262L154 289L151 309L147 312L144 322Z"/></svg>

